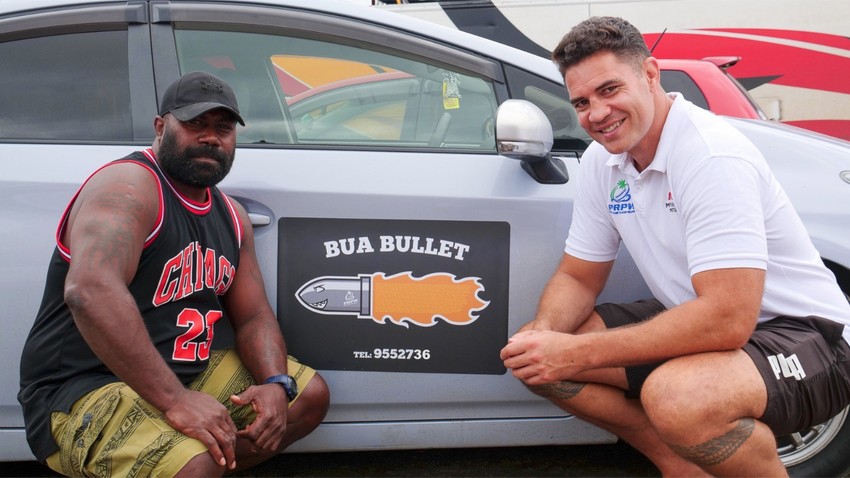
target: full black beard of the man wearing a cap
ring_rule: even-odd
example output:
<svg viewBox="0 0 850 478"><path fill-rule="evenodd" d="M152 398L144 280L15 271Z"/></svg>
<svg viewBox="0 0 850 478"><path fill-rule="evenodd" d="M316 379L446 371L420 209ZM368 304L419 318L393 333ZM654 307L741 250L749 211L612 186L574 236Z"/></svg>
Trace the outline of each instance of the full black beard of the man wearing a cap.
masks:
<svg viewBox="0 0 850 478"><path fill-rule="evenodd" d="M163 172L171 179L197 188L206 188L220 183L230 172L234 156L235 151L227 154L221 148L213 146L187 146L181 151L177 145L176 135L167 129L162 134L156 155ZM210 166L208 163L199 166L192 161L196 157L215 159L218 167Z"/></svg>

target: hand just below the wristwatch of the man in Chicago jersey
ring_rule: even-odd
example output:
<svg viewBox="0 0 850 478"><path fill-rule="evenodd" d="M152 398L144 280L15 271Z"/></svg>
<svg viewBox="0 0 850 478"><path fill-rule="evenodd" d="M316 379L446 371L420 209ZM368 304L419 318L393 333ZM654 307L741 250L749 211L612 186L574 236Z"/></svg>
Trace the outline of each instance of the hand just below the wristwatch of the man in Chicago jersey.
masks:
<svg viewBox="0 0 850 478"><path fill-rule="evenodd" d="M251 405L257 418L244 430L237 432L239 438L254 444L254 452L275 452L280 448L286 433L289 399L286 391L276 383L254 385L240 395L232 395L230 401L236 405Z"/></svg>

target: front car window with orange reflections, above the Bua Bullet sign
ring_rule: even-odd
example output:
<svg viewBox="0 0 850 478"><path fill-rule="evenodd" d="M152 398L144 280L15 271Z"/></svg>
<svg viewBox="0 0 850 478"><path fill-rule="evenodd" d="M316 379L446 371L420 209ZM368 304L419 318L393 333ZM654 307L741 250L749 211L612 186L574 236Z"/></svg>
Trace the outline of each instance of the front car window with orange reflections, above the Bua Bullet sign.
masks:
<svg viewBox="0 0 850 478"><path fill-rule="evenodd" d="M181 73L234 87L241 143L495 149L489 80L367 46L175 30Z"/></svg>

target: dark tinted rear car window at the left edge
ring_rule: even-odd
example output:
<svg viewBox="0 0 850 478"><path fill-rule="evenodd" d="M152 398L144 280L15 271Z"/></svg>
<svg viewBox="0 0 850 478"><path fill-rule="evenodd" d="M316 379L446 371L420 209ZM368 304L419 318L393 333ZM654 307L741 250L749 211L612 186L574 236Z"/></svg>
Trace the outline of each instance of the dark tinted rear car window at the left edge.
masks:
<svg viewBox="0 0 850 478"><path fill-rule="evenodd" d="M0 42L0 140L132 139L126 31Z"/></svg>

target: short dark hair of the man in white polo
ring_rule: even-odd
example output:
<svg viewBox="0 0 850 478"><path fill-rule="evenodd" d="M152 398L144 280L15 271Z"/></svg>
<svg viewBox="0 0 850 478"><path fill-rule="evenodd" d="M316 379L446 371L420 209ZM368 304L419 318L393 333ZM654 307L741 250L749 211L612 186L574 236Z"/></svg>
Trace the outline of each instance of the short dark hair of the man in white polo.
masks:
<svg viewBox="0 0 850 478"><path fill-rule="evenodd" d="M564 76L570 67L603 51L636 67L649 57L646 41L634 25L619 17L590 17L564 35L552 51L552 61Z"/></svg>

